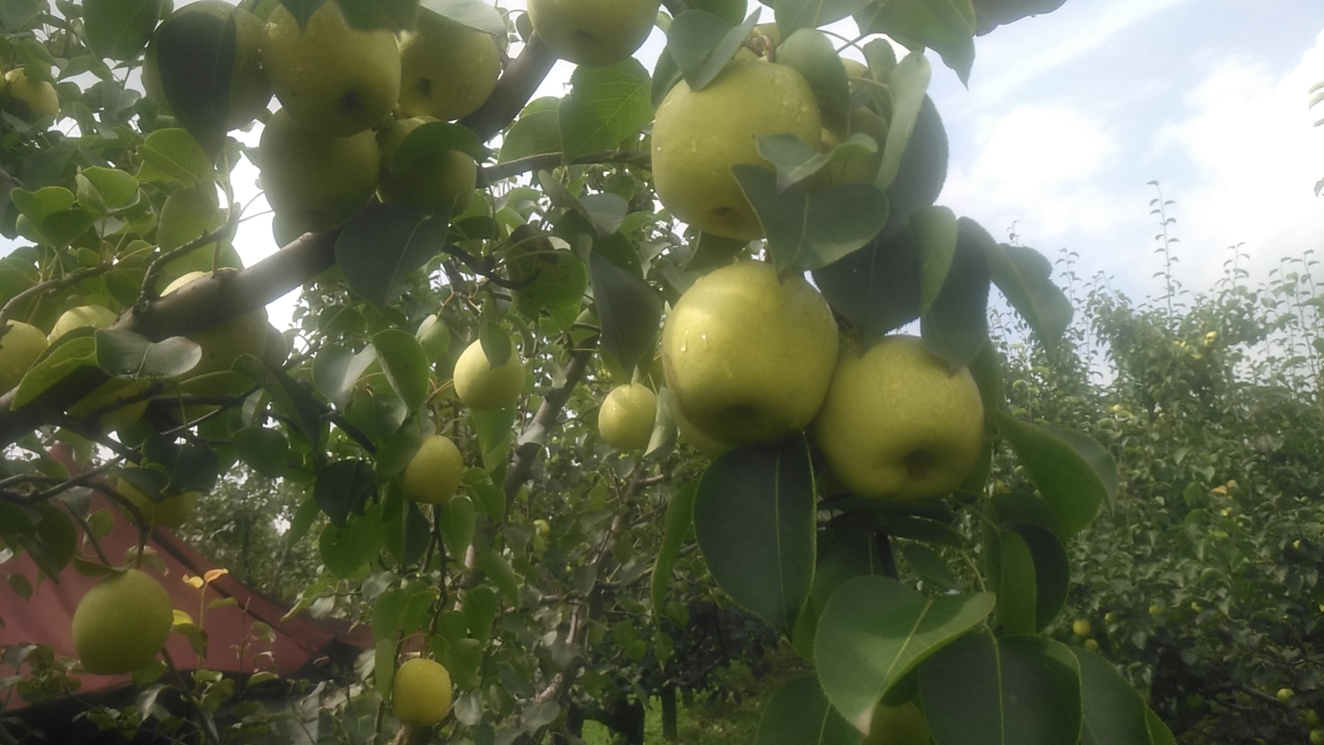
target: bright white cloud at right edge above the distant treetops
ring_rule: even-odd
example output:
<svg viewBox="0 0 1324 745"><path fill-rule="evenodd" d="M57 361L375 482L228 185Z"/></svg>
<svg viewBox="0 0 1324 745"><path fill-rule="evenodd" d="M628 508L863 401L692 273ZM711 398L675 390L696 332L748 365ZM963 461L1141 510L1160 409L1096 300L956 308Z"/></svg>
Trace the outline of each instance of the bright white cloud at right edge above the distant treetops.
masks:
<svg viewBox="0 0 1324 745"><path fill-rule="evenodd" d="M1158 154L1177 154L1192 172L1172 192L1190 289L1222 273L1226 247L1245 241L1253 273L1263 278L1284 256L1324 249L1324 130L1311 125L1307 90L1324 78L1324 32L1300 64L1275 74L1251 58L1213 64L1185 97L1185 115L1153 138Z"/></svg>

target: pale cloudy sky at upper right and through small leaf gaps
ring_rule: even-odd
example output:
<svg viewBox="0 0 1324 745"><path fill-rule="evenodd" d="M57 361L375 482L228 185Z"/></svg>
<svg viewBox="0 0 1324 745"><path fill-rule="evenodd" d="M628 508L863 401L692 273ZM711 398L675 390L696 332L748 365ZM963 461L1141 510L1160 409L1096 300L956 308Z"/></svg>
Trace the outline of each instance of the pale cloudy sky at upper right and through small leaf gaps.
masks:
<svg viewBox="0 0 1324 745"><path fill-rule="evenodd" d="M649 69L663 42L654 29L639 50ZM1311 126L1324 106L1307 109L1324 80L1324 1L1067 0L977 38L976 52L968 90L935 56L952 150L939 201L996 237L1014 224L1050 258L1079 253L1084 277L1157 294L1147 182L1158 180L1176 201L1188 289L1210 288L1233 244L1256 278L1324 249L1324 127ZM559 62L539 94L563 94L571 69ZM242 168L237 184L253 183ZM274 251L270 219L246 221L237 244L249 265ZM273 321L287 322L291 304L273 304Z"/></svg>

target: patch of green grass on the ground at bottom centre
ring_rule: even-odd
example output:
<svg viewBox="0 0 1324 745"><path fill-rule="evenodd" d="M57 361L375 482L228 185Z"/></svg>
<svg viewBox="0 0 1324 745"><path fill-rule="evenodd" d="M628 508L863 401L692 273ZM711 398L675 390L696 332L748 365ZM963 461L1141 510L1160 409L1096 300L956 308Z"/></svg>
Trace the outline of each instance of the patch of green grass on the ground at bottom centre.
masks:
<svg viewBox="0 0 1324 745"><path fill-rule="evenodd" d="M772 652L772 672L760 680L744 665L731 671L731 683L744 691L740 701L707 704L698 696L686 707L677 701L677 730L682 745L749 745L759 730L759 720L772 695L782 683L810 672L810 667L789 647ZM610 732L596 721L584 722L585 745L613 745ZM643 722L645 745L663 745L662 703L649 700Z"/></svg>

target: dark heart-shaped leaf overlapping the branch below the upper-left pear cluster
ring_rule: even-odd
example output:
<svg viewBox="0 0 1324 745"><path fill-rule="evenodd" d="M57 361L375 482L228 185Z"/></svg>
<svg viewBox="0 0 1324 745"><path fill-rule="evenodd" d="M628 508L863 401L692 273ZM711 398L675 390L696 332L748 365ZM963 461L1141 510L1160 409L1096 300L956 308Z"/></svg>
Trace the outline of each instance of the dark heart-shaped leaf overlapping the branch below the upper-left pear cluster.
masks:
<svg viewBox="0 0 1324 745"><path fill-rule="evenodd" d="M405 277L446 245L450 216L409 204L369 204L335 241L335 260L350 289L381 308Z"/></svg>

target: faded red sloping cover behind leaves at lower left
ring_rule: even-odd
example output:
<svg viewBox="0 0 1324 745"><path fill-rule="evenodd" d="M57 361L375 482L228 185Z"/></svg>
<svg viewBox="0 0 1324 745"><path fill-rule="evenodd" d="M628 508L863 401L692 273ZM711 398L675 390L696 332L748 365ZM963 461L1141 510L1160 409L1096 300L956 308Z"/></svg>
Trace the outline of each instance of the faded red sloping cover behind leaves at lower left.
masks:
<svg viewBox="0 0 1324 745"><path fill-rule="evenodd" d="M52 456L68 463L68 451L62 445L52 448ZM113 500L94 492L93 509L107 508L117 514L115 529L99 540L102 550L113 563L124 561L124 553L138 545L138 530L131 521L120 514ZM82 540L82 529L79 529ZM82 545L82 541L81 541ZM216 569L191 546L180 541L169 530L156 529L147 541L166 565L163 574L148 562L140 569L155 577L169 593L177 610L187 612L195 623L208 634L207 658L199 656L180 634L171 634L166 650L180 669L214 669L222 672L253 673L271 671L282 677L293 675L308 661L320 658L320 650L330 642L340 642L365 650L372 647L372 634L367 627L351 627L335 619L316 620L302 612L281 622L290 606L246 587L230 575L222 575L205 587L205 594L184 582L184 577L201 577ZM99 561L90 542L82 546L82 555ZM24 601L9 587L8 575L23 574L32 583L32 598ZM38 578L38 569L28 554L21 554L0 565L0 616L5 627L0 628L0 647L8 644L37 643L49 644L60 656L74 658L70 623L78 601L101 578L83 577L73 566L65 569L60 582L49 577ZM200 610L200 606L217 599L234 598L238 606ZM275 642L256 640L250 635L254 622L263 622L275 631ZM242 656L240 650L242 648ZM128 675L75 673L81 680L81 695L97 693L111 688L130 685ZM21 708L25 703L15 696L9 708Z"/></svg>

